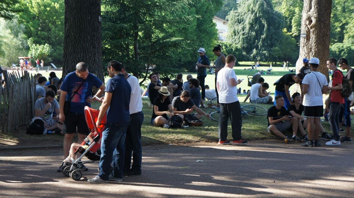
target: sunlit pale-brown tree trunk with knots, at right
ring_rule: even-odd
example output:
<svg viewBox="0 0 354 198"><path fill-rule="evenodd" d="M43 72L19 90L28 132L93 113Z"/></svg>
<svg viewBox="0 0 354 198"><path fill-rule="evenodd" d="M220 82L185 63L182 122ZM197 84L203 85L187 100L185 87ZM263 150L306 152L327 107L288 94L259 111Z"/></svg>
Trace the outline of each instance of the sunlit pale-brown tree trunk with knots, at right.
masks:
<svg viewBox="0 0 354 198"><path fill-rule="evenodd" d="M328 78L326 61L329 58L331 11L332 0L303 1L297 72L303 66L303 58L317 57L320 59L319 71Z"/></svg>

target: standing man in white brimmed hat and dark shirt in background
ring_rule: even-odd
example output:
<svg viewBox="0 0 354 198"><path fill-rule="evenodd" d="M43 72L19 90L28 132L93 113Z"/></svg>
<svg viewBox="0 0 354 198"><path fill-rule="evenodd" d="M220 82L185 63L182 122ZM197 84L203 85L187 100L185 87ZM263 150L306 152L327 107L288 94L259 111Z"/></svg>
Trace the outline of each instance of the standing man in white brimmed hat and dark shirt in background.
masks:
<svg viewBox="0 0 354 198"><path fill-rule="evenodd" d="M197 51L199 53L198 62L196 64L197 78L199 80L199 85L202 87L202 100L205 100L205 77L206 68L210 68L209 58L205 55L205 49L200 47Z"/></svg>

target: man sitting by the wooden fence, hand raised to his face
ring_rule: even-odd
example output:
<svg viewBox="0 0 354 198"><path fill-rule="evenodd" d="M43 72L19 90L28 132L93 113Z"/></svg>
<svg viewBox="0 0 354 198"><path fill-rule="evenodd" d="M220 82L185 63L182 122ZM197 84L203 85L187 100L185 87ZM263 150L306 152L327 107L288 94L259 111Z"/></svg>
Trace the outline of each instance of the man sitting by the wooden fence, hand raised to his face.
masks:
<svg viewBox="0 0 354 198"><path fill-rule="evenodd" d="M46 96L39 98L34 105L34 115L40 117L44 124L45 128L48 131L54 129L63 130L63 123L59 123L53 119L53 112L59 112L59 104L55 100L55 92L53 90L47 90Z"/></svg>

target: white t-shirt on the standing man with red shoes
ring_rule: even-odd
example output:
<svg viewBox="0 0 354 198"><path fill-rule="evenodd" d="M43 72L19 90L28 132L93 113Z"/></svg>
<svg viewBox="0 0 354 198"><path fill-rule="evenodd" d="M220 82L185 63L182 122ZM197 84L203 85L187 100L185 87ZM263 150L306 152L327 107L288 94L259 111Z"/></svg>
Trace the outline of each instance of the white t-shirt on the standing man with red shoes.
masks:
<svg viewBox="0 0 354 198"><path fill-rule="evenodd" d="M217 73L216 83L219 84L219 103L229 104L239 101L237 86L232 86L230 79L237 80L235 71L229 67L220 69Z"/></svg>

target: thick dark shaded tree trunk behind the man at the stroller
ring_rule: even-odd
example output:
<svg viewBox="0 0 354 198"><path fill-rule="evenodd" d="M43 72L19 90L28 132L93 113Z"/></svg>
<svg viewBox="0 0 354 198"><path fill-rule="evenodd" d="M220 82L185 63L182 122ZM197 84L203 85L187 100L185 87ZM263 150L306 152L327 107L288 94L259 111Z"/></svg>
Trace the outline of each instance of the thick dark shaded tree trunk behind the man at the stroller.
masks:
<svg viewBox="0 0 354 198"><path fill-rule="evenodd" d="M65 0L63 78L79 62L104 82L101 0Z"/></svg>

